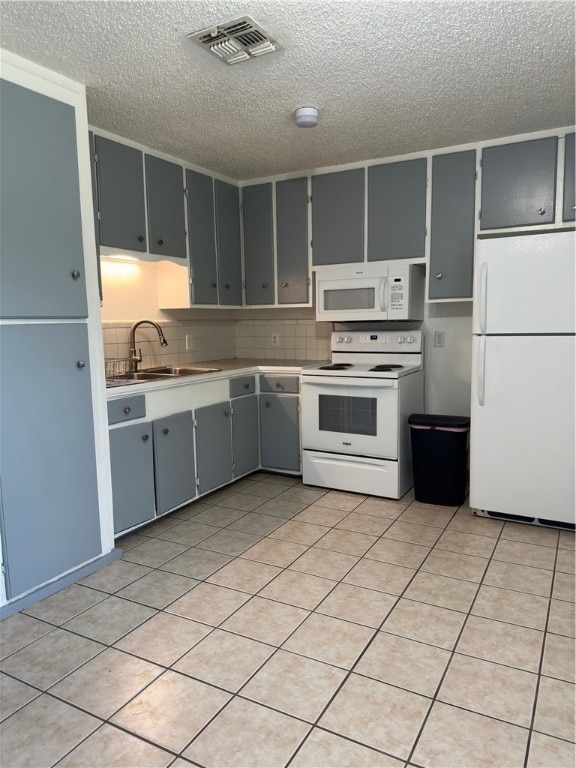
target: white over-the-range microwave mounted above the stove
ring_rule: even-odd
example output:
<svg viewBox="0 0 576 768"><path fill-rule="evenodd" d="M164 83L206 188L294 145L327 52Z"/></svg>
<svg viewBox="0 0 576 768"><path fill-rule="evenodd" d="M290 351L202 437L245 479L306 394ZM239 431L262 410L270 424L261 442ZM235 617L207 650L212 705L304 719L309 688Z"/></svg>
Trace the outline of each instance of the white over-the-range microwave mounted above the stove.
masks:
<svg viewBox="0 0 576 768"><path fill-rule="evenodd" d="M424 266L341 264L316 267L316 319L422 320Z"/></svg>

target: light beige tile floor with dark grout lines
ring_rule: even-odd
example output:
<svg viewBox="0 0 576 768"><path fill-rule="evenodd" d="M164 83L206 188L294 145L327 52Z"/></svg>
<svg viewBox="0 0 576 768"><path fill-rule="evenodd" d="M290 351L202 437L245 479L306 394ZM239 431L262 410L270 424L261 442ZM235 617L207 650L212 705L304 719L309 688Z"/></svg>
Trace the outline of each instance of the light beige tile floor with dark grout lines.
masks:
<svg viewBox="0 0 576 768"><path fill-rule="evenodd" d="M0 625L1 764L574 765L574 534L257 473Z"/></svg>

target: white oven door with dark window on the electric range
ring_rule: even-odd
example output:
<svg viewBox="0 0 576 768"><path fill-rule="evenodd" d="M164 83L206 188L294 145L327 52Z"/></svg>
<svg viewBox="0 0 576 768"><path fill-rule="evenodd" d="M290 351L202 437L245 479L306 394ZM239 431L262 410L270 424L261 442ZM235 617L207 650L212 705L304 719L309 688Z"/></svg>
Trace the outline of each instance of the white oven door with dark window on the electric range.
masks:
<svg viewBox="0 0 576 768"><path fill-rule="evenodd" d="M398 381L302 377L302 447L398 458Z"/></svg>

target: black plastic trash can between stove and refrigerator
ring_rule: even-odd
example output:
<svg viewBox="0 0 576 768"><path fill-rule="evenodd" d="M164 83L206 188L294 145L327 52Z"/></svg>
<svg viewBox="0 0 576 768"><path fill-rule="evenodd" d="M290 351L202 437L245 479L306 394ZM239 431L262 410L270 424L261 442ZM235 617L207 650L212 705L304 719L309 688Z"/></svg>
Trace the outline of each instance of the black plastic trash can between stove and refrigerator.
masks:
<svg viewBox="0 0 576 768"><path fill-rule="evenodd" d="M468 416L413 413L408 418L416 501L455 507L466 498Z"/></svg>

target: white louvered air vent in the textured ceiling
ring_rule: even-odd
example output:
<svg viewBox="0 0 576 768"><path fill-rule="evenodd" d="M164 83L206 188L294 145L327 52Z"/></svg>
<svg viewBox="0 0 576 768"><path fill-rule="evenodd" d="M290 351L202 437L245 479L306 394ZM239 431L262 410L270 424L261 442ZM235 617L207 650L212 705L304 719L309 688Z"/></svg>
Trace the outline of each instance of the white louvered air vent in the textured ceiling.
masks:
<svg viewBox="0 0 576 768"><path fill-rule="evenodd" d="M280 43L250 16L190 32L186 37L226 64L239 64L265 53L282 50Z"/></svg>

